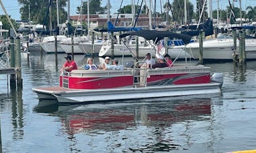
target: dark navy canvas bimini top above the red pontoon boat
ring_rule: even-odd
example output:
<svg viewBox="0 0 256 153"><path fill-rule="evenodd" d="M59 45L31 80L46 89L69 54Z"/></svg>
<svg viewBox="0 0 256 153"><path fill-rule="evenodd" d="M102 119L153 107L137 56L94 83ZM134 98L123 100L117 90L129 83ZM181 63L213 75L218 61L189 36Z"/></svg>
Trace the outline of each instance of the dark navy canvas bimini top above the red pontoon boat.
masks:
<svg viewBox="0 0 256 153"><path fill-rule="evenodd" d="M156 43L159 40L163 40L165 37L168 37L171 40L174 38L182 39L185 44L188 44L191 40L191 36L189 36L188 34L176 34L174 32L157 31L157 30L139 30L135 32L128 32L128 33L119 35L119 38L124 38L125 36L129 36L129 35L141 36L146 40L153 40Z"/></svg>

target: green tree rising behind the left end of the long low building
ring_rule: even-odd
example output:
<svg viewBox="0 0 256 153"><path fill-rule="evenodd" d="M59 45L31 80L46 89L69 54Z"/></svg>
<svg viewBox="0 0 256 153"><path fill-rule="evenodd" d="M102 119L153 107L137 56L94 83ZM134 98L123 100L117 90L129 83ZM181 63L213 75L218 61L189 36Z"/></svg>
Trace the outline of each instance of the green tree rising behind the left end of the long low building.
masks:
<svg viewBox="0 0 256 153"><path fill-rule="evenodd" d="M99 13L107 13L108 6L101 7L102 0L90 0L89 1L89 13L90 14L99 14ZM77 13L79 14L81 10L81 6L77 7ZM81 14L87 14L87 1L83 1L82 3L82 12Z"/></svg>

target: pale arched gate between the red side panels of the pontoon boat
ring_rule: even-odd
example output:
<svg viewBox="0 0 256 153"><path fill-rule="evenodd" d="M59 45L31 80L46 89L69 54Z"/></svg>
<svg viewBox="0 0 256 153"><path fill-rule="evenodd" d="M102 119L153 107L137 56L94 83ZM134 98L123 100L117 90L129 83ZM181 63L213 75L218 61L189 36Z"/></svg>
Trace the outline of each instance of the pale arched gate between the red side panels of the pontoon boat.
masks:
<svg viewBox="0 0 256 153"><path fill-rule="evenodd" d="M145 61L137 61L133 66L133 87L147 86L147 63Z"/></svg>

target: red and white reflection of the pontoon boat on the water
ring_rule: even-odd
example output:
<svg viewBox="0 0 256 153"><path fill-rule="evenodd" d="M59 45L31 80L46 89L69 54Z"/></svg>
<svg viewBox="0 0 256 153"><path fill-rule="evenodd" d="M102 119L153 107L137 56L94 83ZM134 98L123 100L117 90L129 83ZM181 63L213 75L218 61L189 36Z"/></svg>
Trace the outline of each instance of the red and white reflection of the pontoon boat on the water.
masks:
<svg viewBox="0 0 256 153"><path fill-rule="evenodd" d="M104 150L104 145L112 146L113 152L184 150L190 143L190 136L186 137L190 126L211 119L211 98L152 98L66 106L40 104L45 101L39 102L35 111L60 117L62 130L68 137L79 139L82 134L85 143L91 143L91 139L102 142L102 148L91 146L90 150Z"/></svg>

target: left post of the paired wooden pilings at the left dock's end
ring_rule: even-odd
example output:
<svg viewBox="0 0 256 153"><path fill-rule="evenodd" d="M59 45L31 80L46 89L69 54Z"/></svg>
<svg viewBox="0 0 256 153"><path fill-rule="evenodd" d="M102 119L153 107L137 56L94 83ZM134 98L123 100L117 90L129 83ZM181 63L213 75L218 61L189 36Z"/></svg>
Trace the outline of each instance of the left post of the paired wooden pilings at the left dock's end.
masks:
<svg viewBox="0 0 256 153"><path fill-rule="evenodd" d="M9 40L10 40L10 50L11 50L11 59L10 59L11 67L15 67L16 56L15 56L15 51L14 51L14 37L11 36L9 38ZM9 84L12 87L16 87L16 76L15 76L15 74L10 75Z"/></svg>

